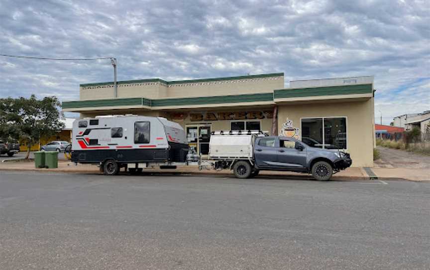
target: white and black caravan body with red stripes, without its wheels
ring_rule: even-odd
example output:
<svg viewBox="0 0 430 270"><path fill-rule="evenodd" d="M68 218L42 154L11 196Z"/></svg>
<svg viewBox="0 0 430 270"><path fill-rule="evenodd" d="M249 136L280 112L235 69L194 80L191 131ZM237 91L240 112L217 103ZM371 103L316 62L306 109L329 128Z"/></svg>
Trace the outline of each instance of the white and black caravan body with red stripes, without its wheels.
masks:
<svg viewBox="0 0 430 270"><path fill-rule="evenodd" d="M72 161L117 165L186 162L188 142L182 127L159 117L112 116L73 123ZM164 162L164 163L163 163Z"/></svg>

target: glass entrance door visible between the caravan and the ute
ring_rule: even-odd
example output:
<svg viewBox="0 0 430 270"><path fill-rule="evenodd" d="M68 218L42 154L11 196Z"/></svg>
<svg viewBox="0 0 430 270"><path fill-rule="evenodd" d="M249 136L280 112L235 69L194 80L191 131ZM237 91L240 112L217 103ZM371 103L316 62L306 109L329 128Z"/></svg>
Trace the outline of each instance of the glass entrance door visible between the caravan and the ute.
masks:
<svg viewBox="0 0 430 270"><path fill-rule="evenodd" d="M209 153L209 141L211 140L211 125L187 125L186 130L190 147L194 147L199 155L207 155Z"/></svg>

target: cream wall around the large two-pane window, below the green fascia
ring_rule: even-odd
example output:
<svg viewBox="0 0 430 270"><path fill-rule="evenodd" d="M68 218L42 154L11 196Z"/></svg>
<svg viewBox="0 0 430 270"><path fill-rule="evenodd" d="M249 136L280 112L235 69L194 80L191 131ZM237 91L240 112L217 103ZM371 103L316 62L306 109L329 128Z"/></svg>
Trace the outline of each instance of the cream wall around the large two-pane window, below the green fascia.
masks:
<svg viewBox="0 0 430 270"><path fill-rule="evenodd" d="M301 118L346 117L347 152L351 154L352 166L373 167L372 99L361 102L318 103L307 105L280 105L278 107L278 130L287 119L293 121L293 127L299 128Z"/></svg>

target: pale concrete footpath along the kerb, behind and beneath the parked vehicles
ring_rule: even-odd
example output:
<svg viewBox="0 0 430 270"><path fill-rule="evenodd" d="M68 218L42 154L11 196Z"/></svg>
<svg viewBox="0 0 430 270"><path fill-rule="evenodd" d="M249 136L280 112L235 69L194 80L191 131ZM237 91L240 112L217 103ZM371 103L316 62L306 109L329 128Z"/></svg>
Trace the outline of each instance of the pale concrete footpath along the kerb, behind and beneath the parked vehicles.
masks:
<svg viewBox="0 0 430 270"><path fill-rule="evenodd" d="M101 173L97 165L90 164L78 164L59 160L58 168L46 169L46 168L35 168L32 160L14 160L8 162L0 162L0 170L8 171L40 171L40 172L66 172L66 173L85 173L85 174L99 174ZM199 170L198 166L180 166L177 169L144 169L144 173L172 173L172 174L215 174L215 175L232 175L229 170ZM121 173L124 173L121 169ZM295 173L295 172L279 172L279 171L261 171L261 176L268 177L293 177L293 178L304 178L311 179L312 176L309 174ZM333 175L332 179L369 179L367 173L360 167L347 168L344 171L338 172Z"/></svg>

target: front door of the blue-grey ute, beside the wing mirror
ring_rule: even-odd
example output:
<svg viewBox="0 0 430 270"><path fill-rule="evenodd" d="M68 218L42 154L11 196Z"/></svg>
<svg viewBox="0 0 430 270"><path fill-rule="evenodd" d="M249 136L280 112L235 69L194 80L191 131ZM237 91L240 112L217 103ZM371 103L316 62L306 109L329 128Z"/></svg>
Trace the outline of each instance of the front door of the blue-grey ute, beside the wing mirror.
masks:
<svg viewBox="0 0 430 270"><path fill-rule="evenodd" d="M296 140L280 138L278 150L278 164L285 168L306 168L306 148L295 148Z"/></svg>

